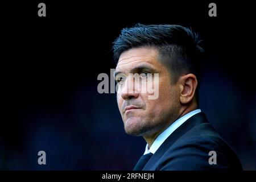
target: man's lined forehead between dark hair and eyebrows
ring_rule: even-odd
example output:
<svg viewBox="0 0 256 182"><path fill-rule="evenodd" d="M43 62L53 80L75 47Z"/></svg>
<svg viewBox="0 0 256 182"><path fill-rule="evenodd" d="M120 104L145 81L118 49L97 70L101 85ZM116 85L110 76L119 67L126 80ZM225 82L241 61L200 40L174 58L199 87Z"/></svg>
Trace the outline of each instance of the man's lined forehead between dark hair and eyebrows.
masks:
<svg viewBox="0 0 256 182"><path fill-rule="evenodd" d="M129 71L140 64L151 65L159 68L162 65L158 61L158 52L154 48L132 48L123 52L118 60L116 71Z"/></svg>

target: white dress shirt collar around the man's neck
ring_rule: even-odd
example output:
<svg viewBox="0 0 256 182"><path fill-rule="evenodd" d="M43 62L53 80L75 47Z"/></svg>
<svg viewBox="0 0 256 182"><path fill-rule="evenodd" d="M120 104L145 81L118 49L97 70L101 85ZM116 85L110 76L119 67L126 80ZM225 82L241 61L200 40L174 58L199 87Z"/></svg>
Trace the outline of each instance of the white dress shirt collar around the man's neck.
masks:
<svg viewBox="0 0 256 182"><path fill-rule="evenodd" d="M166 140L180 125L182 125L193 115L200 112L200 109L193 110L188 114L183 115L183 117L177 119L175 122L173 122L169 127L167 127L166 130L164 130L160 135L158 135L158 137L152 143L152 146L150 148L148 148L148 144L146 145L146 149L143 155L149 153L155 154L156 150L158 150L158 148L163 144L164 140Z"/></svg>

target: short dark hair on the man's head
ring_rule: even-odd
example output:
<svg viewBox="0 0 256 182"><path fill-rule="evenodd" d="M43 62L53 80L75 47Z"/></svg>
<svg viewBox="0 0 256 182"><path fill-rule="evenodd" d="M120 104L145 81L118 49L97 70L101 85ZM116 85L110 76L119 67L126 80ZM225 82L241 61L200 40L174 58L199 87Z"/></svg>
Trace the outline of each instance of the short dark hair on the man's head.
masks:
<svg viewBox="0 0 256 182"><path fill-rule="evenodd" d="M200 44L199 34L177 24L136 24L131 28L123 28L113 42L114 60L117 63L121 53L131 48L152 47L158 50L159 61L163 61L170 69L172 82L175 83L183 74L193 73L199 88L200 62L204 52Z"/></svg>

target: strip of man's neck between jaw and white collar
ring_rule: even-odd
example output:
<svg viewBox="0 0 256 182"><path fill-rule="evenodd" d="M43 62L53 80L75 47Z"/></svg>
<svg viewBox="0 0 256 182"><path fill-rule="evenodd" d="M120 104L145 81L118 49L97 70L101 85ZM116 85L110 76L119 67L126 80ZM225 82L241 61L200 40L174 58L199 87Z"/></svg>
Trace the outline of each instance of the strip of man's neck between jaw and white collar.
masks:
<svg viewBox="0 0 256 182"><path fill-rule="evenodd" d="M170 126L172 123L174 123L177 119L183 117L185 114L188 114L189 112L191 112L195 109L197 109L197 104L195 102L193 102L189 106L181 106L181 109L180 109L179 114L177 115L176 119L174 119L171 122L167 122L164 127L162 127L160 130L156 131L155 133L150 134L150 135L144 135L143 138L144 138L144 140L146 140L148 147L150 148L152 146L152 144L154 143L154 141L158 137L158 135L160 133L162 133L164 130L166 130L168 126Z"/></svg>

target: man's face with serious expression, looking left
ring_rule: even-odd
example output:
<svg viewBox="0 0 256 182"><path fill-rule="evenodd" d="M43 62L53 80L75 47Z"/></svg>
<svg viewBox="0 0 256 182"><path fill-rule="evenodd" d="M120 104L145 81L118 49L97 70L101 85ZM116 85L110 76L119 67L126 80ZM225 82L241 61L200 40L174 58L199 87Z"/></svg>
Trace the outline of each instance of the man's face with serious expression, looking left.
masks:
<svg viewBox="0 0 256 182"><path fill-rule="evenodd" d="M133 48L123 52L115 72L119 73L118 108L127 134L154 135L175 121L180 109L179 86L171 84L170 71L158 60L156 49ZM159 73L158 98L150 100L148 96L152 93L141 92L145 84L134 81L134 86L129 86L128 82L134 80L129 73L143 75L141 81L147 73L152 73L152 80L154 73Z"/></svg>

